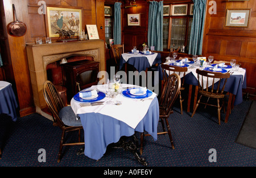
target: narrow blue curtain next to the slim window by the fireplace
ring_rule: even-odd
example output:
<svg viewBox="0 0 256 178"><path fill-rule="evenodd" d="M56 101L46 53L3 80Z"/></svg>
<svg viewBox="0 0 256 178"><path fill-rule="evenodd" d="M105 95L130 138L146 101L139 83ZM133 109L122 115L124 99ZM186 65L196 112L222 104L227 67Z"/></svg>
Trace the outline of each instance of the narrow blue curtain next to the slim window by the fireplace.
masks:
<svg viewBox="0 0 256 178"><path fill-rule="evenodd" d="M114 5L114 44L121 44L121 2Z"/></svg>

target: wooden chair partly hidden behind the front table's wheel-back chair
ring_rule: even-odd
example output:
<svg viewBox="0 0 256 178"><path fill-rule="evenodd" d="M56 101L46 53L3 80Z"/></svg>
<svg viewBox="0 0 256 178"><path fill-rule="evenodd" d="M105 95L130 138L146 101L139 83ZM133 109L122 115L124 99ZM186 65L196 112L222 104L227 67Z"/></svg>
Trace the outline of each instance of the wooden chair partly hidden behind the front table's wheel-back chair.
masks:
<svg viewBox="0 0 256 178"><path fill-rule="evenodd" d="M162 67L162 72L163 72L163 83L165 83L167 81L168 76L170 76L171 73L177 73L179 74L179 76L183 76L181 77L181 87L180 87L180 113L183 114L183 107L182 107L182 102L184 101L184 99L182 99L181 97L181 91L185 90L184 87L184 76L186 74L186 72L188 71L187 67L177 67L177 66L170 66L167 64L161 64Z"/></svg>

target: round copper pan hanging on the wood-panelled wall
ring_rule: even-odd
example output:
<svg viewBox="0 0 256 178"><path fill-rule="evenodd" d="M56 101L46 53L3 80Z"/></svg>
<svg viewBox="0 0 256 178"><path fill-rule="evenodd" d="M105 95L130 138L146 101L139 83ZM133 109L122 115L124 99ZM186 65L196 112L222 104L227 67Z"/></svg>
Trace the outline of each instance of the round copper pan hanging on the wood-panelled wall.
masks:
<svg viewBox="0 0 256 178"><path fill-rule="evenodd" d="M14 5L13 5L13 10L14 10L16 21L8 24L8 26L7 26L8 33L11 36L23 36L26 34L27 26L25 23L20 22L18 20Z"/></svg>

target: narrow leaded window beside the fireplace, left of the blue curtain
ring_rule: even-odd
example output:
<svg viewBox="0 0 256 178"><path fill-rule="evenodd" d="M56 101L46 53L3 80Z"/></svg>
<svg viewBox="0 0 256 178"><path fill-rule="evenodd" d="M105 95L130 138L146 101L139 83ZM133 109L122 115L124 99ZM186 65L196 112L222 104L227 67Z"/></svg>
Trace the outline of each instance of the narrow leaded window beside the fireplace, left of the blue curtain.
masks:
<svg viewBox="0 0 256 178"><path fill-rule="evenodd" d="M109 39L113 39L113 20L114 17L112 16L112 7L111 6L104 6L105 12L105 40L106 44L109 45Z"/></svg>

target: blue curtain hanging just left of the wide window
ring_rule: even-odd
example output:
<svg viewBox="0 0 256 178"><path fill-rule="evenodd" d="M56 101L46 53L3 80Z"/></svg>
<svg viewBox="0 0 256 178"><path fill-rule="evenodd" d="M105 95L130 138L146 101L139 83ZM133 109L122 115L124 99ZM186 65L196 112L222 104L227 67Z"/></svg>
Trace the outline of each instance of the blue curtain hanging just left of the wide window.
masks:
<svg viewBox="0 0 256 178"><path fill-rule="evenodd" d="M151 1L148 10L148 47L163 51L163 1Z"/></svg>

